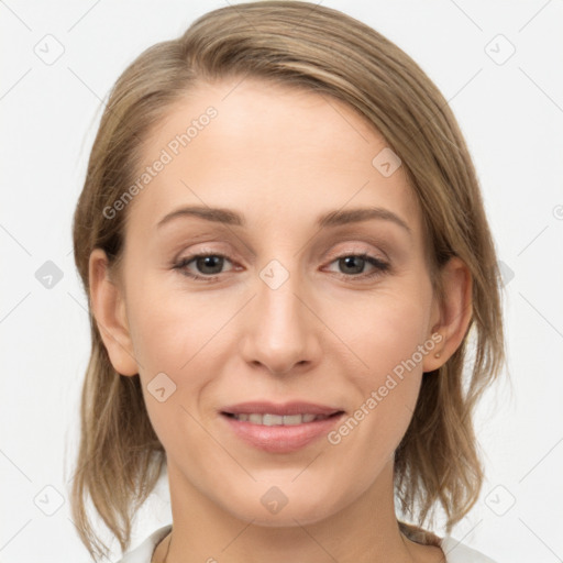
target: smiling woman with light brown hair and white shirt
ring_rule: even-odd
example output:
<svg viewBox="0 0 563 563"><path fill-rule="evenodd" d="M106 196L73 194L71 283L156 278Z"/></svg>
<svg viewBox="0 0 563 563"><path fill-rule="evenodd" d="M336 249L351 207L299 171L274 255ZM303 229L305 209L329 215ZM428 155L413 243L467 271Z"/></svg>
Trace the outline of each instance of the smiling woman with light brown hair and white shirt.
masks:
<svg viewBox="0 0 563 563"><path fill-rule="evenodd" d="M266 1L151 47L111 92L74 244L93 559L87 495L125 551L165 465L173 523L123 562L492 561L449 534L482 487L500 277L455 119L397 46Z"/></svg>

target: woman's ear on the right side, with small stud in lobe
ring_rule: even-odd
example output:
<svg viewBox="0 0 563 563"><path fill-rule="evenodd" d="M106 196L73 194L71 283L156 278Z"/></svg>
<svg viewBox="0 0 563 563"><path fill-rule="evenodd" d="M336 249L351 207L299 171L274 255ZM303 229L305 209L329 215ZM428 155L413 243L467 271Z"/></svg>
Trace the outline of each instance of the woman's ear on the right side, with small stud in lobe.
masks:
<svg viewBox="0 0 563 563"><path fill-rule="evenodd" d="M431 330L437 345L424 356L423 372L432 372L445 364L465 336L473 313L473 282L466 264L460 257L452 256L440 275L443 301L434 301ZM439 342L435 333L441 336ZM440 357L435 357L437 353Z"/></svg>

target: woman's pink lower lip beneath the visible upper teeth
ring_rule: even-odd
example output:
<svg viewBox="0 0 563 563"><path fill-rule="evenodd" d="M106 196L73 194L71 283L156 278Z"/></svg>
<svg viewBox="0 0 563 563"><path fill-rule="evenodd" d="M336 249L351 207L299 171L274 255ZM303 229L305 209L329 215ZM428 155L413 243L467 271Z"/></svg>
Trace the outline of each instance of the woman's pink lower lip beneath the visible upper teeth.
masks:
<svg viewBox="0 0 563 563"><path fill-rule="evenodd" d="M305 448L318 438L327 435L343 416L341 412L323 420L301 424L266 427L221 413L221 418L235 435L254 448L272 453L289 453Z"/></svg>

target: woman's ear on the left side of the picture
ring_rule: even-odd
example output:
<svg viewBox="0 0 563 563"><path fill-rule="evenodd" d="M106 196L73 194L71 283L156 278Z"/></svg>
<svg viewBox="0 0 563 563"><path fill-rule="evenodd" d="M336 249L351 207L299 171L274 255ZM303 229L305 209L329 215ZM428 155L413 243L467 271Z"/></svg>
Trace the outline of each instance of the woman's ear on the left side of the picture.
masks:
<svg viewBox="0 0 563 563"><path fill-rule="evenodd" d="M89 261L90 301L98 330L113 368L121 375L136 375L137 362L133 354L123 295L110 277L108 257L95 249Z"/></svg>

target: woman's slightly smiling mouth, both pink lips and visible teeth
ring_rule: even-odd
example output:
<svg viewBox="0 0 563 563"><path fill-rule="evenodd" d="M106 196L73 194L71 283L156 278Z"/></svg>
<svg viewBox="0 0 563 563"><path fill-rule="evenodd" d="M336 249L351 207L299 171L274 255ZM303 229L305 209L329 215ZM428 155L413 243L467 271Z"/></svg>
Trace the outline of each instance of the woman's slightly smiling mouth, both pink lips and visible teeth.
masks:
<svg viewBox="0 0 563 563"><path fill-rule="evenodd" d="M327 435L344 413L339 408L305 402L252 402L225 407L220 418L231 435L245 444L268 453L290 453Z"/></svg>

